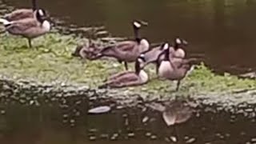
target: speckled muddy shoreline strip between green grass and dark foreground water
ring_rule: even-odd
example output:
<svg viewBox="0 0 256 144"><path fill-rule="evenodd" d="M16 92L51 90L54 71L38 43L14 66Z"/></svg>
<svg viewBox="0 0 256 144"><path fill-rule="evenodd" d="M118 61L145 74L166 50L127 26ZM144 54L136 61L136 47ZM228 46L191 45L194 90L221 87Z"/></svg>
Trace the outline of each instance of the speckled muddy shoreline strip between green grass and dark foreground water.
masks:
<svg viewBox="0 0 256 144"><path fill-rule="evenodd" d="M18 102L23 105L40 106L47 102L61 102L66 98L82 98L91 103L91 106L109 105L114 107L134 107L148 102L166 102L174 99L185 100L198 110L208 110L214 107L215 111L225 110L232 114L246 112L245 116L256 117L256 90L234 90L232 92L188 94L187 96L172 93L168 97L137 92L123 92L122 90L98 90L82 84L69 85L63 82L38 83L30 80L17 80L7 77L0 78L0 102ZM252 113L252 114L250 114Z"/></svg>

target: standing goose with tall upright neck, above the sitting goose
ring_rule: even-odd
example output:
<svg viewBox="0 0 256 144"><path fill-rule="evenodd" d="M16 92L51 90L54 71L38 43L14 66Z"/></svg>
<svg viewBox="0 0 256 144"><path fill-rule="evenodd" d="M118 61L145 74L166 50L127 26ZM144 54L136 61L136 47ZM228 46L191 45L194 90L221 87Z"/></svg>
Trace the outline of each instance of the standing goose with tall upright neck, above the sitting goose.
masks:
<svg viewBox="0 0 256 144"><path fill-rule="evenodd" d="M130 41L118 42L115 46L107 46L98 54L98 58L103 56L118 59L118 62L124 62L128 70L127 62L134 62L139 54L150 49L150 43L145 38L139 38L138 30L145 25L143 22L134 22L135 39Z"/></svg>

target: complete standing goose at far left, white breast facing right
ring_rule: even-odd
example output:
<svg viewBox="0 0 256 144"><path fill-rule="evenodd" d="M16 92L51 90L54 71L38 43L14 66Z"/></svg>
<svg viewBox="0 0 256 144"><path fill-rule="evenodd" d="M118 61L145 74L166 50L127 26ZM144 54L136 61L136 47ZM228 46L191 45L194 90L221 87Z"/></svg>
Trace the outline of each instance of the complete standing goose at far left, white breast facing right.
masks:
<svg viewBox="0 0 256 144"><path fill-rule="evenodd" d="M46 20L44 10L37 10L36 18L25 18L18 21L8 21L0 18L0 22L3 23L6 31L10 34L27 38L30 47L32 47L32 38L37 38L50 31L50 22Z"/></svg>

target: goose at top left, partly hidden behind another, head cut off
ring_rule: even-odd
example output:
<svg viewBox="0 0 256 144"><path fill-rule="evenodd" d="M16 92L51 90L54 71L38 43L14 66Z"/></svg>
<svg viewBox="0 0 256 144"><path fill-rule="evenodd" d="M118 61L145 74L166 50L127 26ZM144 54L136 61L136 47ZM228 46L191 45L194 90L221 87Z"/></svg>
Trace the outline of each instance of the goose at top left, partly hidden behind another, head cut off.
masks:
<svg viewBox="0 0 256 144"><path fill-rule="evenodd" d="M8 21L17 21L24 18L34 18L35 12L38 10L36 0L32 0L32 9L18 9L6 14L3 18Z"/></svg>

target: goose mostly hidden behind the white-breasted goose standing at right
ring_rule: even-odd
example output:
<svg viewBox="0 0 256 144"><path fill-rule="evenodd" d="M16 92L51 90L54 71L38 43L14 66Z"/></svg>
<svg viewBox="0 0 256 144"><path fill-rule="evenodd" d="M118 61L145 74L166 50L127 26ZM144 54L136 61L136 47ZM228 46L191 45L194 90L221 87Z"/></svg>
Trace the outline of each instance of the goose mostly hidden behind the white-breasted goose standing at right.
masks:
<svg viewBox="0 0 256 144"><path fill-rule="evenodd" d="M183 50L184 46L187 45L187 42L181 38L175 38L174 39L174 46L170 46L170 58L185 58L186 53ZM150 48L150 50L144 51L142 54L145 54L145 63L144 66L147 66L150 63L156 63L158 60L158 55L162 53L163 51L163 45L155 46L153 48ZM160 60L162 60L164 56L162 55L160 57ZM156 70L156 73L158 74L158 68Z"/></svg>

